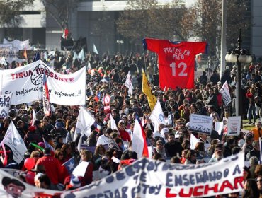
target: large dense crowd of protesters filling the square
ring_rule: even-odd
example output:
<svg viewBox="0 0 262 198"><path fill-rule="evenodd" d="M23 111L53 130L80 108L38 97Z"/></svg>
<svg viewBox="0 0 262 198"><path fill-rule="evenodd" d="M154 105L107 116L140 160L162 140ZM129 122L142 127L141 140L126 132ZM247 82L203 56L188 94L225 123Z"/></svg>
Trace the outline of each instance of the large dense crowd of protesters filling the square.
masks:
<svg viewBox="0 0 262 198"><path fill-rule="evenodd" d="M79 107L53 104L52 114L46 116L42 110L42 101L11 106L8 117L0 117L1 139L4 138L12 120L28 151L20 164L13 161L12 152L7 153L7 163L4 162L5 156L2 154L1 168L23 170L21 180L51 190L70 190L89 185L95 180L94 171L99 170L105 173L106 177L137 159L137 153L132 151L131 143L135 119L139 117L146 133L147 146L152 148L149 156L154 160L182 164L213 163L244 151L250 166L243 167L242 197L259 197L259 194L262 194L262 165L258 163L262 134L261 63L251 63L241 70L243 118L249 119L247 124L254 125L254 129L248 133L240 132L239 136L227 136L224 132L219 134L215 128L210 135L190 132L189 121L191 114L211 116L214 123L222 121L223 117L236 115L236 66L227 66L221 78L215 69L210 76L203 71L195 81L195 88L191 90L177 88L163 91L159 88L157 57L152 54L103 54L99 57L97 54L87 53L84 60L73 60L69 52L56 52L47 59L42 53L41 59L61 74L70 74L82 66L88 66L86 109L95 117L96 122L91 126L90 136L84 136L83 139L77 136L74 141ZM21 65L16 62L11 64L12 68L16 66ZM159 124L157 129L150 120L151 109L147 96L142 93L142 70L147 74L152 93L159 100L164 112L165 124ZM128 89L124 86L127 74L132 76L134 90L131 95L128 95ZM229 84L232 98L229 105L224 105L220 93L225 81ZM105 95L110 95L110 109L104 108ZM33 110L35 121L30 123ZM111 128L110 114L118 130ZM191 133L199 140L194 148L190 145ZM82 141L81 150L77 148L79 141ZM45 142L52 146L53 151L45 148ZM72 157L77 163L89 162L83 177L69 175L67 168L62 166ZM30 170L25 167L28 166L24 163L27 158L33 158L35 161ZM222 197L230 196L237 197L238 194Z"/></svg>

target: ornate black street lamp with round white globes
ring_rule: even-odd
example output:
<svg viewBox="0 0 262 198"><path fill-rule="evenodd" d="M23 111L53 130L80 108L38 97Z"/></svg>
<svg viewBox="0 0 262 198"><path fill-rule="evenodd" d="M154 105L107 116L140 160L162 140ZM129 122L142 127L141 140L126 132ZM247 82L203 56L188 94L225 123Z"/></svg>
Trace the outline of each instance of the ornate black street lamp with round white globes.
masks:
<svg viewBox="0 0 262 198"><path fill-rule="evenodd" d="M252 57L249 54L249 50L241 48L241 29L239 29L239 38L237 39L238 46L235 49L229 50L225 57L226 62L237 62L237 102L236 104L236 115L241 116L241 127L242 127L242 116L243 116L243 100L242 100L242 88L241 88L241 63L249 64L252 62Z"/></svg>

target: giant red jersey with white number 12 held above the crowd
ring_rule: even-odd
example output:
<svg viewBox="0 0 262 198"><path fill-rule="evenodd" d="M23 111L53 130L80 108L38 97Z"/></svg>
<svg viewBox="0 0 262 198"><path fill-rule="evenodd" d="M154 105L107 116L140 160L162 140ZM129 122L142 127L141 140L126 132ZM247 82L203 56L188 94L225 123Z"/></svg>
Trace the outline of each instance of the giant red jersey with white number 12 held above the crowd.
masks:
<svg viewBox="0 0 262 198"><path fill-rule="evenodd" d="M207 42L171 42L144 38L144 50L159 56L159 86L176 89L194 87L195 55L207 52Z"/></svg>

